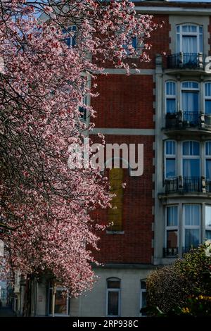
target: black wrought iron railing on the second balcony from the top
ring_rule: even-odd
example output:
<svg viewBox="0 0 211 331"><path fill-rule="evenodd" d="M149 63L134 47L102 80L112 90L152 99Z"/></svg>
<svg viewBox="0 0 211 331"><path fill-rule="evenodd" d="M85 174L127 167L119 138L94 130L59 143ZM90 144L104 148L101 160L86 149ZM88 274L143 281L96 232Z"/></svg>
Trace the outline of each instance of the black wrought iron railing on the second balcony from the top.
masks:
<svg viewBox="0 0 211 331"><path fill-rule="evenodd" d="M188 127L206 128L211 130L211 114L199 111L178 111L165 116L166 129L186 129Z"/></svg>

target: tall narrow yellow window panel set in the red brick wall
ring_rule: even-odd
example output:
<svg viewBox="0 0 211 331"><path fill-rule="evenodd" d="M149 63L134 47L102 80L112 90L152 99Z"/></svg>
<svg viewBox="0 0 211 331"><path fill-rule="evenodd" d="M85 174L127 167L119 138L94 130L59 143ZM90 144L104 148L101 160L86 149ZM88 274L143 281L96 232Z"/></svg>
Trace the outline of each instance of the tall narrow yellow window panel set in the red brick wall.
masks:
<svg viewBox="0 0 211 331"><path fill-rule="evenodd" d="M115 194L108 209L108 222L112 224L110 231L122 231L122 209L123 209L123 169L112 168L109 172L110 192Z"/></svg>

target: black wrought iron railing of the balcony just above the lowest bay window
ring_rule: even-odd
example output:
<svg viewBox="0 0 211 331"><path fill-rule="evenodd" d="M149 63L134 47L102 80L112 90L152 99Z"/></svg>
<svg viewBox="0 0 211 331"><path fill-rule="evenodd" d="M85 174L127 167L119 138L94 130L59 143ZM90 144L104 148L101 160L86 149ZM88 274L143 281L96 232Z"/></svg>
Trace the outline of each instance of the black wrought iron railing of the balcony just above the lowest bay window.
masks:
<svg viewBox="0 0 211 331"><path fill-rule="evenodd" d="M164 181L165 193L211 193L211 180L205 177L174 177Z"/></svg>

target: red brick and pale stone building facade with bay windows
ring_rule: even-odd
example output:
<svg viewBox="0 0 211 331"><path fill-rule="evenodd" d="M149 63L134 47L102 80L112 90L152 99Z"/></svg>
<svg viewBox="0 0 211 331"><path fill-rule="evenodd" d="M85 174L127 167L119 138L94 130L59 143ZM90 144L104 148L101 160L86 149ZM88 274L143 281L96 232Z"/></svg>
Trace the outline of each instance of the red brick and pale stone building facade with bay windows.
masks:
<svg viewBox="0 0 211 331"><path fill-rule="evenodd" d="M135 3L163 22L151 62L129 59L139 68L129 76L108 63L98 98L87 102L97 111L92 139L100 132L107 144L143 144L143 175L108 171L117 209L94 215L113 222L94 252L103 263L94 267L98 280L77 299L57 288L55 316L140 316L151 270L211 239L211 4ZM34 281L32 293L31 315L51 316L51 283Z"/></svg>

